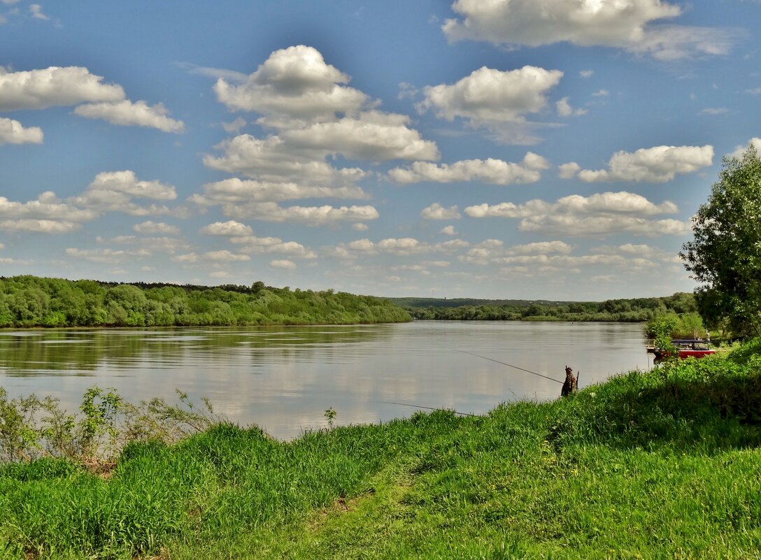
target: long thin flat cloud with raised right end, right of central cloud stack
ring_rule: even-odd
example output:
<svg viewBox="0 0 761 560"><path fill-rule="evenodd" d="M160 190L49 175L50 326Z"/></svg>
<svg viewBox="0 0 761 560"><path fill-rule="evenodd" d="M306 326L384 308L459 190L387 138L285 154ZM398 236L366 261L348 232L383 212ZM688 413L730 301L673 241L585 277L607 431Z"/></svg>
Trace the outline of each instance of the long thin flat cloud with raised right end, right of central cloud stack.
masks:
<svg viewBox="0 0 761 560"><path fill-rule="evenodd" d="M528 152L520 164L497 160L489 157L486 160L463 160L454 164L431 164L416 161L412 166L396 167L388 172L389 177L396 183L459 183L482 181L495 185L511 185L514 183L536 183L541 179L540 170L549 167L549 161L544 157Z"/></svg>

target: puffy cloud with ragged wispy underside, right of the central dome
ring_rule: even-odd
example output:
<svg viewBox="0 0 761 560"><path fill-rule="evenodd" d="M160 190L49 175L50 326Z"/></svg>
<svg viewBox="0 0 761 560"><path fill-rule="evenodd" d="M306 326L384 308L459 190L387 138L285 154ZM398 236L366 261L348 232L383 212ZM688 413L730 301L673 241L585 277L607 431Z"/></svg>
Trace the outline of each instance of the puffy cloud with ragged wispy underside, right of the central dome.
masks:
<svg viewBox="0 0 761 560"><path fill-rule="evenodd" d="M546 107L547 92L563 73L536 66L502 72L483 66L455 84L427 86L419 110L431 109L442 119L466 119L470 126L497 132L505 142L536 143L524 125L526 115Z"/></svg>

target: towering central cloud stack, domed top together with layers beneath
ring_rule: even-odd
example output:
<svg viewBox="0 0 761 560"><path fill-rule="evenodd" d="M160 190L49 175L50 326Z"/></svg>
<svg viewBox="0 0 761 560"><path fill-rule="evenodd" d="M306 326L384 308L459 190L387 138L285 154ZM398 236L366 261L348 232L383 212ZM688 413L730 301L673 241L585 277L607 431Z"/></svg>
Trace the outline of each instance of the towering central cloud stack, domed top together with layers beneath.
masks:
<svg viewBox="0 0 761 560"><path fill-rule="evenodd" d="M422 138L408 116L377 110L378 103L346 86L348 81L317 49L304 45L272 52L244 84L220 78L218 100L231 110L260 113L256 123L274 132L222 142L216 147L222 154L206 155L204 164L254 180L336 186L355 183L365 171L338 169L329 157L438 159L435 142Z"/></svg>

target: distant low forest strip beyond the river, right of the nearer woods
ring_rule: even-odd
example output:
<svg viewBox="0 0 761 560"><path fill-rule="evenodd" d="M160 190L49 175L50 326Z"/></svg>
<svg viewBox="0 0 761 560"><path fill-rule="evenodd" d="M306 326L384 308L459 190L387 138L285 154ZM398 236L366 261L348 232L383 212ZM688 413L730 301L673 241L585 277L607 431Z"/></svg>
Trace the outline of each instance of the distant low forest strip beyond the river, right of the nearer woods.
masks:
<svg viewBox="0 0 761 560"><path fill-rule="evenodd" d="M482 321L620 321L653 320L664 313L696 313L693 294L664 298L595 301L476 300L389 298L415 319Z"/></svg>

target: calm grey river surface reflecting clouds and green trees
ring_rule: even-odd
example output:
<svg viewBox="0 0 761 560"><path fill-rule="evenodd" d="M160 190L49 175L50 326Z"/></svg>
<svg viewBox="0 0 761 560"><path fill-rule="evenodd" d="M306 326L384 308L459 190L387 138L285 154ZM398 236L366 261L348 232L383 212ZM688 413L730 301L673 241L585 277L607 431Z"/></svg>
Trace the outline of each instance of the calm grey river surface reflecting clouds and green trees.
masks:
<svg viewBox="0 0 761 560"><path fill-rule="evenodd" d="M182 390L280 439L325 426L329 407L336 425L415 412L404 405L486 412L503 401L556 398L565 364L585 387L651 360L637 323L0 330L0 386L9 396L55 396L74 412L95 384L132 402L174 402Z"/></svg>

